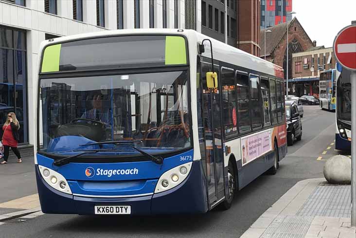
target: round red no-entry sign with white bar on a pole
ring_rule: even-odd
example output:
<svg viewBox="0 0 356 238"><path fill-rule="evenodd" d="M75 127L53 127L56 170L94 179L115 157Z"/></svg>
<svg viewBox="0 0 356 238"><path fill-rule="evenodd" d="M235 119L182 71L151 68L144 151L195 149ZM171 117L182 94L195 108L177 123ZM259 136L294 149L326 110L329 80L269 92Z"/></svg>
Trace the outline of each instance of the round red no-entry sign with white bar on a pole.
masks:
<svg viewBox="0 0 356 238"><path fill-rule="evenodd" d="M356 25L343 28L334 40L334 53L342 67L356 71Z"/></svg>

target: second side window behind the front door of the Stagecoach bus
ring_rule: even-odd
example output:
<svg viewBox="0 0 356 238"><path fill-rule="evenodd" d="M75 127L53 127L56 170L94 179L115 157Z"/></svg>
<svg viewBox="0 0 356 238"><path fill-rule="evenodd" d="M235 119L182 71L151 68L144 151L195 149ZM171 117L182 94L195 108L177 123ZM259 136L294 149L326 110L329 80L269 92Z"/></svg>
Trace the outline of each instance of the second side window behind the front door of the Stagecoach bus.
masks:
<svg viewBox="0 0 356 238"><path fill-rule="evenodd" d="M237 86L237 121L239 131L247 132L251 129L249 120L249 77L244 74L236 74Z"/></svg>

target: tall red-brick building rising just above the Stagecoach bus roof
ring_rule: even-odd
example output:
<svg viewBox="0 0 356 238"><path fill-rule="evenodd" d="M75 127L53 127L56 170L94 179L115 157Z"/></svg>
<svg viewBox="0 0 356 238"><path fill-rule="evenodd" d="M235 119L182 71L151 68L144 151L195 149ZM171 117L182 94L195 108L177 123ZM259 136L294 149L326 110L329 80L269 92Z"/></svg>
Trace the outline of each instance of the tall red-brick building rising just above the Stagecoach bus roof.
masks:
<svg viewBox="0 0 356 238"><path fill-rule="evenodd" d="M237 5L237 48L260 56L260 0L239 0Z"/></svg>

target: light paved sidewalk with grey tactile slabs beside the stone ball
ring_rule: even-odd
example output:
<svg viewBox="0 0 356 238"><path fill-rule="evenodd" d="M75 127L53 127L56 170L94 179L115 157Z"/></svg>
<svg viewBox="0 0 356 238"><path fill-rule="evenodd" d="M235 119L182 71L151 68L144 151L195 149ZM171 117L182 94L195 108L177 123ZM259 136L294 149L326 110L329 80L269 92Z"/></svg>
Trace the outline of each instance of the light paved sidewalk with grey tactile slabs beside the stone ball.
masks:
<svg viewBox="0 0 356 238"><path fill-rule="evenodd" d="M324 178L298 182L267 209L241 238L355 238L351 186Z"/></svg>

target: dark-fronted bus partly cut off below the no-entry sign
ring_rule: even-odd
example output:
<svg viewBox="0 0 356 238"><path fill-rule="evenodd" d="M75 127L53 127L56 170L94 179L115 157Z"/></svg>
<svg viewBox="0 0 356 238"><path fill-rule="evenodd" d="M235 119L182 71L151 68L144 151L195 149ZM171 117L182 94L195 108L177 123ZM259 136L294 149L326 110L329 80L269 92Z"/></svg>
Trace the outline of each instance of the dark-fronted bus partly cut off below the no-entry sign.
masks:
<svg viewBox="0 0 356 238"><path fill-rule="evenodd" d="M351 81L350 71L338 67L336 92L335 148L351 151Z"/></svg>

